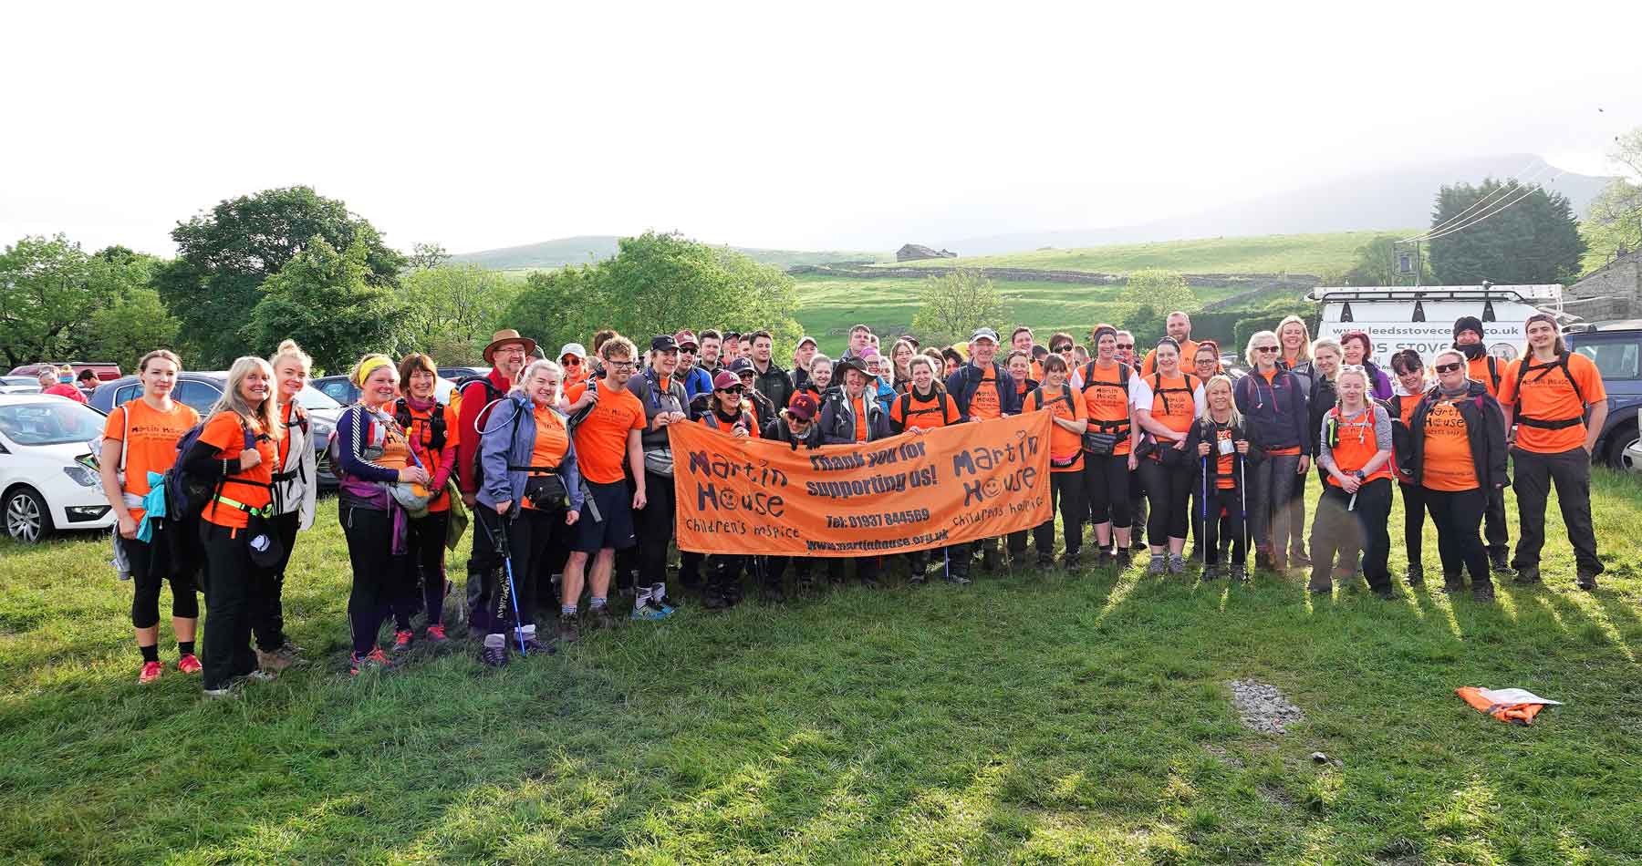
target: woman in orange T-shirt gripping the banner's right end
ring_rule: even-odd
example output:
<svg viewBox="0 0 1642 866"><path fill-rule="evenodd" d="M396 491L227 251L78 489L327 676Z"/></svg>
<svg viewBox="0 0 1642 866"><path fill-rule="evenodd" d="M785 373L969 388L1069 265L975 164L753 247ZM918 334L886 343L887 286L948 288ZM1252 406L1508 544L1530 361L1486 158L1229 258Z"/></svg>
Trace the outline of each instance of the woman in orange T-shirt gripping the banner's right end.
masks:
<svg viewBox="0 0 1642 866"><path fill-rule="evenodd" d="M1061 335L1057 335L1061 336ZM1071 341L1067 341L1071 354ZM1074 395L1066 384L1066 358L1048 354L1043 359L1043 376L1048 379L1038 390L1026 397L1023 412L1036 412L1049 407L1054 412L1054 426L1049 428L1049 520L1033 530L1033 543L1038 548L1038 567L1054 564L1054 513L1059 504L1061 526L1066 533L1067 569L1079 567L1079 551L1084 546L1084 518L1089 510L1084 505L1084 431L1089 430L1089 408L1082 395Z"/></svg>

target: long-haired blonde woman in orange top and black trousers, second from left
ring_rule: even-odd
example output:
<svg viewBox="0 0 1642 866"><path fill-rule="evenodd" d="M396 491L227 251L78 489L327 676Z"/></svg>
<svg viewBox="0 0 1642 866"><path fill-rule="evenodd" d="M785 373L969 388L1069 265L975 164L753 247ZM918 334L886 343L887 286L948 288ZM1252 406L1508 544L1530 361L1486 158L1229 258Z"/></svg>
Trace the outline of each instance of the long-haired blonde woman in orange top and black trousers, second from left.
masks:
<svg viewBox="0 0 1642 866"><path fill-rule="evenodd" d="M258 563L277 541L273 517L273 466L279 454L274 369L241 358L212 407L194 446L182 454L189 479L210 481L213 495L200 512L205 548L205 694L227 697L235 679L273 679L256 666L251 623L273 594L273 564ZM253 541L261 549L253 551Z"/></svg>

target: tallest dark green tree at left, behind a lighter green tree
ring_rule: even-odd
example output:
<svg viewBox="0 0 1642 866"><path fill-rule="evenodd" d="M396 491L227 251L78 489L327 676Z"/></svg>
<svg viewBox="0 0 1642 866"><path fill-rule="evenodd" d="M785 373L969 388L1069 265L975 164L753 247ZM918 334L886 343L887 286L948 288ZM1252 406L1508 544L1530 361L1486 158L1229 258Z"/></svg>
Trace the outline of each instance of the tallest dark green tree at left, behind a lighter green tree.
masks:
<svg viewBox="0 0 1642 866"><path fill-rule="evenodd" d="M199 362L223 366L243 354L240 335L261 297L258 289L312 238L333 251L360 246L368 285L394 285L404 267L404 256L389 249L369 221L312 187L241 195L177 223L171 231L177 258L156 279Z"/></svg>

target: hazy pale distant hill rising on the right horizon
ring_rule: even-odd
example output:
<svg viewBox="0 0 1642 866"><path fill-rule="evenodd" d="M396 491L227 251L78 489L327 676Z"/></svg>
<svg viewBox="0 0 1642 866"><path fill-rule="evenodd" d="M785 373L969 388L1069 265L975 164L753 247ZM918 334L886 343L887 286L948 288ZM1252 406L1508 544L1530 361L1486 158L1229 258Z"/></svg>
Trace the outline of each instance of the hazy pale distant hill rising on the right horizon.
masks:
<svg viewBox="0 0 1642 866"><path fill-rule="evenodd" d="M1445 184L1478 184L1488 177L1543 182L1568 197L1576 215L1608 185L1608 177L1565 172L1532 154L1504 154L1447 162L1381 169L1330 180L1294 192L1263 195L1187 216L1171 216L1131 226L1023 231L980 238L938 238L959 256L988 256L1054 248L1230 238L1251 235L1315 235L1369 231L1378 226L1429 226L1437 190Z"/></svg>

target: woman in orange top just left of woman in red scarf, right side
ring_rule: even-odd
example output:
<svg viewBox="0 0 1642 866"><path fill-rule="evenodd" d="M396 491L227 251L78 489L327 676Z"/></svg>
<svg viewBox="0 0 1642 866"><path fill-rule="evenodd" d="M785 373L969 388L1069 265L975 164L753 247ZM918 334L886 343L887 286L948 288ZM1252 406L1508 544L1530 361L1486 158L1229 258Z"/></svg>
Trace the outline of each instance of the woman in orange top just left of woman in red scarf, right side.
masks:
<svg viewBox="0 0 1642 866"><path fill-rule="evenodd" d="M1328 484L1317 500L1312 522L1312 579L1307 589L1333 589L1335 554L1355 563L1363 551L1363 577L1381 599L1391 599L1386 558L1391 538L1391 413L1368 399L1369 377L1360 364L1340 369L1335 382L1340 405L1323 415L1319 426L1317 463L1328 472Z"/></svg>

